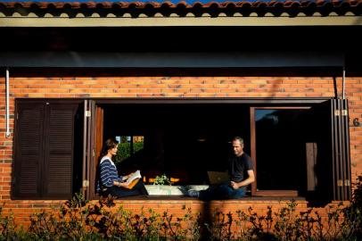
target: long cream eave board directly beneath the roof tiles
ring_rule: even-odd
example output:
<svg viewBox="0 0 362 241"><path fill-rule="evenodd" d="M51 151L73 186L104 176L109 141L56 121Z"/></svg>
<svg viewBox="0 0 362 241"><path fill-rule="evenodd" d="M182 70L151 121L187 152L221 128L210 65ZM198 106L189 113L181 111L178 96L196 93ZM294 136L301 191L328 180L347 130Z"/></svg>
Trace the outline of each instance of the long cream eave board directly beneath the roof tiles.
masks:
<svg viewBox="0 0 362 241"><path fill-rule="evenodd" d="M0 16L2 27L361 26L362 16L21 17Z"/></svg>

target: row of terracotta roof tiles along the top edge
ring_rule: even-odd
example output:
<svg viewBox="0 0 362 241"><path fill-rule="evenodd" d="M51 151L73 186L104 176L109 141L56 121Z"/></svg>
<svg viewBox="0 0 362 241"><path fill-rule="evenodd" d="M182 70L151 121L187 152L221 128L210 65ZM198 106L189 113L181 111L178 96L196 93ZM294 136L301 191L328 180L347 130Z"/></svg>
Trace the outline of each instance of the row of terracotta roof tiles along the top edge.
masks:
<svg viewBox="0 0 362 241"><path fill-rule="evenodd" d="M28 9L28 10L27 10ZM164 16L169 16L170 13L179 13L184 16L187 12L193 12L195 15L208 12L240 12L248 15L250 12L265 14L271 12L275 15L280 15L281 12L289 12L298 14L304 12L311 15L314 12L321 12L327 15L330 12L337 12L343 15L345 12L353 12L356 15L362 14L362 0L287 0L281 1L225 1L209 3L194 2L188 4L185 1L177 4L169 1L165 2L0 2L0 12L12 14L13 12L49 12L67 10L73 11L73 14L78 12L140 12L148 15L154 15L156 12L162 13ZM167 14L164 12L167 12ZM41 15L41 14L40 14ZM243 14L244 15L244 14Z"/></svg>

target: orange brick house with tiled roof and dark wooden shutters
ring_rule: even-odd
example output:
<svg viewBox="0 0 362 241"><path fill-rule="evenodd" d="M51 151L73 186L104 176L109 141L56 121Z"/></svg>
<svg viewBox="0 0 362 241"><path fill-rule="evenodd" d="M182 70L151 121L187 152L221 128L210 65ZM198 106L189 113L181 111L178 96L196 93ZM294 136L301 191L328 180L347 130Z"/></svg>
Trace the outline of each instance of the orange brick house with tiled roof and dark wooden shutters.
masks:
<svg viewBox="0 0 362 241"><path fill-rule="evenodd" d="M121 163L205 184L242 136L260 211L348 201L362 172L362 1L0 3L0 199L20 221L82 191L96 199L107 137ZM182 212L198 200L119 201Z"/></svg>

